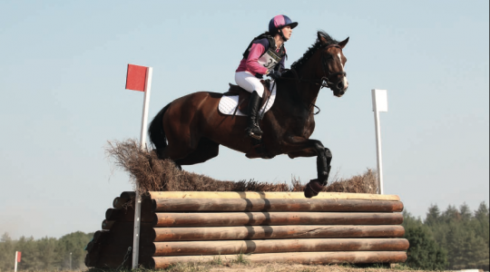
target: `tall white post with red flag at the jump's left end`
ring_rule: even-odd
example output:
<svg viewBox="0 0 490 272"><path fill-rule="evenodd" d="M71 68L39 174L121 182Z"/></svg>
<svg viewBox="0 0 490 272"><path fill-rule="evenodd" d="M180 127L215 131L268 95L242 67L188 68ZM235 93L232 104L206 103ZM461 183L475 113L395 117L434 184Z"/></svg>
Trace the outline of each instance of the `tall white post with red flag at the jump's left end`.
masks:
<svg viewBox="0 0 490 272"><path fill-rule="evenodd" d="M144 67L128 64L126 75L126 89L144 92L143 112L142 112L142 131L140 134L140 146L146 148L146 123L148 122L148 107L150 104L150 91L152 89L152 67ZM142 214L142 199L138 192L138 182L136 182L136 199L134 207L134 231L132 236L132 269L138 268L138 258L140 255L140 220Z"/></svg>

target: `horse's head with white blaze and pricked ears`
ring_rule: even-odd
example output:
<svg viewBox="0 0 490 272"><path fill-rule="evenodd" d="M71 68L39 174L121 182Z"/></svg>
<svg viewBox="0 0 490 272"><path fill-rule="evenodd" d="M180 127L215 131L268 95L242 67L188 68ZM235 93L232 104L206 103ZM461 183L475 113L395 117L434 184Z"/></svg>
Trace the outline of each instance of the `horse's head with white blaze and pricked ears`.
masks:
<svg viewBox="0 0 490 272"><path fill-rule="evenodd" d="M327 83L328 88L334 92L334 95L340 97L348 89L347 73L344 69L347 58L342 53L342 49L348 44L348 38L335 44L332 44L331 41L320 33L318 34L318 38L323 49L319 51L317 74L322 81Z"/></svg>

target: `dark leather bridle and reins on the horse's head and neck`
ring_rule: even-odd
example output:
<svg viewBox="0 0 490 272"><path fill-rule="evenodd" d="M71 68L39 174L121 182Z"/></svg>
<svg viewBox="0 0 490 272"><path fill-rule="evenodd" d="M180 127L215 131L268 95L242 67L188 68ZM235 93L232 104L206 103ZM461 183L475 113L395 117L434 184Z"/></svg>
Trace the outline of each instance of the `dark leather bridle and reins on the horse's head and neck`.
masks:
<svg viewBox="0 0 490 272"><path fill-rule="evenodd" d="M320 48L328 49L328 48L332 48L332 47L337 47L340 50L342 50L342 48L338 44L323 45ZM299 77L298 72L294 68L290 69L290 71L294 74L294 77L295 77L294 79L287 78L287 77L280 77L280 79L296 81L296 92L299 94L299 96L302 96L301 89L299 88L299 83L301 83L301 82L314 83L316 85L320 85L321 86L320 90L321 90L323 88L330 88L330 86L333 85L333 83L330 82L331 77L338 76L340 74L343 76L347 75L347 73L345 71L344 72L337 72L337 73L330 73L328 71L327 61L325 60L325 56L323 56L323 55L321 57L321 64L322 64L321 67L323 69L323 74L324 74L324 76L322 76L321 79L303 79L303 78ZM312 113L313 115L317 115L317 114L319 114L319 112L321 112L320 108L317 105L315 105L312 102L308 102L308 103L309 103L309 106L308 107L305 106L305 108L307 110L309 110L309 112L311 112L311 106L313 106L319 110L318 112Z"/></svg>

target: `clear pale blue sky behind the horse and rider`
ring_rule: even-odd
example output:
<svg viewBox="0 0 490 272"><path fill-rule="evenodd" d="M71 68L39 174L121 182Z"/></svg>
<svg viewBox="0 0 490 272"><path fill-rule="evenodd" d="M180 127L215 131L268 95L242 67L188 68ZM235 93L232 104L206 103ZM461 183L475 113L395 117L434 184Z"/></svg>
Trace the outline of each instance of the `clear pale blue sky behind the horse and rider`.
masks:
<svg viewBox="0 0 490 272"><path fill-rule="evenodd" d="M104 152L107 141L140 135L143 95L124 89L127 64L153 67L152 120L188 93L226 92L275 15L299 22L287 67L319 30L350 37L348 92L319 93L311 136L332 151L332 175L376 169L371 89L383 89L385 193L422 219L433 204L488 204L488 10L485 0L1 1L0 234L100 229L113 199L132 189ZM250 160L222 146L183 169L219 180L317 175L315 158Z"/></svg>

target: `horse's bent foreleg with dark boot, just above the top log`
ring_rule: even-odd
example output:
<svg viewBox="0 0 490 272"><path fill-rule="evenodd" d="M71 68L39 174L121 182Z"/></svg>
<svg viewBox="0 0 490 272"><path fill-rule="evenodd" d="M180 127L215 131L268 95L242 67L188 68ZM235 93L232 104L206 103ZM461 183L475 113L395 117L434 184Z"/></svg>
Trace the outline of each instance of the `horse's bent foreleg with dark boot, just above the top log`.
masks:
<svg viewBox="0 0 490 272"><path fill-rule="evenodd" d="M318 140L309 140L302 137L291 137L289 140L291 141L288 142L285 148L285 150L289 150L287 152L289 158L317 156L318 179L309 181L305 188L305 197L317 196L321 189L327 185L332 153Z"/></svg>

